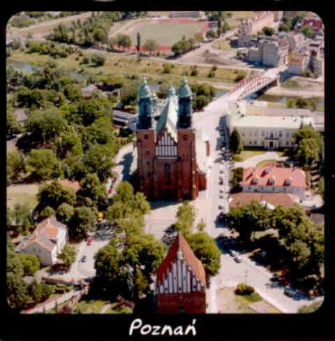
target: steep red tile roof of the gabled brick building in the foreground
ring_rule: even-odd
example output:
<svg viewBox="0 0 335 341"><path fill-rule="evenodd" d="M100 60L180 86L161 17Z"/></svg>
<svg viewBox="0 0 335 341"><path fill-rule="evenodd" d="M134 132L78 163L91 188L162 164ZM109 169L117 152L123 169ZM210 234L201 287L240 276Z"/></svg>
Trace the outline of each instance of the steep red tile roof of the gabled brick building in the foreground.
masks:
<svg viewBox="0 0 335 341"><path fill-rule="evenodd" d="M195 256L191 247L186 242L186 239L179 232L177 237L174 239L168 254L163 259L161 265L157 270L157 280L158 283L161 284L165 278L166 273L172 267L172 263L177 261L177 252L181 251L184 256L184 259L188 266L193 270L195 276L198 278L200 283L206 286L206 275L204 272L204 266L202 266L201 261Z"/></svg>

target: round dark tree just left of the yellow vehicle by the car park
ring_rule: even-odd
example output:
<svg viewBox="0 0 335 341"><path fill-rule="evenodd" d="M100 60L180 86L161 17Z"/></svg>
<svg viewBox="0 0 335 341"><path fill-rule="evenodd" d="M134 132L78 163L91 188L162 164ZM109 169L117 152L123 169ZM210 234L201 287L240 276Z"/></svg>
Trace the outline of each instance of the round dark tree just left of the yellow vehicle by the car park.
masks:
<svg viewBox="0 0 335 341"><path fill-rule="evenodd" d="M73 217L68 222L68 232L71 238L84 239L89 232L94 231L96 227L96 215L91 208L75 208Z"/></svg>

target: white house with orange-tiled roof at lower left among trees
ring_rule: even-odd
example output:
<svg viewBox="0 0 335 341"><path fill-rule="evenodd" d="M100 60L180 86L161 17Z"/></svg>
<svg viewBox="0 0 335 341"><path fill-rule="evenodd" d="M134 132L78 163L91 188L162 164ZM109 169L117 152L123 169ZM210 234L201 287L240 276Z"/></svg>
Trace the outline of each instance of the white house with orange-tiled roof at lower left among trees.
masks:
<svg viewBox="0 0 335 341"><path fill-rule="evenodd" d="M43 266L52 266L57 263L57 256L67 240L67 227L52 216L40 222L29 237L22 238L16 250L24 254L35 254Z"/></svg>

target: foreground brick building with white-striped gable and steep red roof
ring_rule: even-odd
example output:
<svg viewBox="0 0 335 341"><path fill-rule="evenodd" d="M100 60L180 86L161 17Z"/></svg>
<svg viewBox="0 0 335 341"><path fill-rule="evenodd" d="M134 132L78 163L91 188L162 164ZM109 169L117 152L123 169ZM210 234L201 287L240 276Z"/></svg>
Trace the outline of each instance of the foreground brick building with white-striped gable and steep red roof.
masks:
<svg viewBox="0 0 335 341"><path fill-rule="evenodd" d="M158 267L155 295L158 312L206 312L204 267L180 232Z"/></svg>

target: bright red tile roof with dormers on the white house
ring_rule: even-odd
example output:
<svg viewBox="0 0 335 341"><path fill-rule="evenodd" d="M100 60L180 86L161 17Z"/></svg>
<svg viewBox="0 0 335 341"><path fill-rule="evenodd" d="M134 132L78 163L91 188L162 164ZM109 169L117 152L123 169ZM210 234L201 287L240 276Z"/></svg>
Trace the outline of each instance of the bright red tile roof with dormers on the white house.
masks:
<svg viewBox="0 0 335 341"><path fill-rule="evenodd" d="M242 186L252 184L252 180L258 177L257 186L267 186L274 179L273 186L290 186L306 188L306 175L297 167L275 167L271 165L246 168L243 172ZM270 180L270 181L269 181ZM290 184L288 184L290 180ZM255 185L253 183L253 185Z"/></svg>

